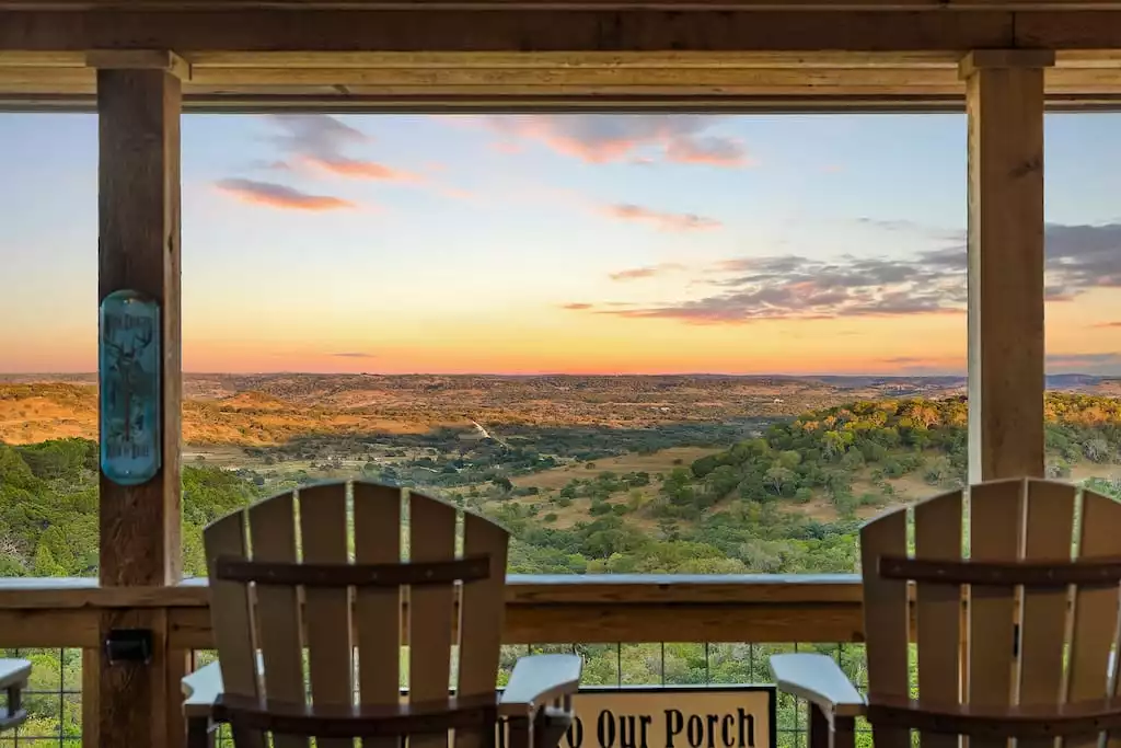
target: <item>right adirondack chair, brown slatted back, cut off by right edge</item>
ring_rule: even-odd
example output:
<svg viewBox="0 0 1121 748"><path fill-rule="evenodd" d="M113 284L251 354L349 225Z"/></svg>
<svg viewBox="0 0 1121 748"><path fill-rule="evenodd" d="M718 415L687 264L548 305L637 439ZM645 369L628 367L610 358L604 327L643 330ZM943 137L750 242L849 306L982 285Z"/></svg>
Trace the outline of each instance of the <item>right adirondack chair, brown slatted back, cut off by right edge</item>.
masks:
<svg viewBox="0 0 1121 748"><path fill-rule="evenodd" d="M1097 746L1121 737L1117 663L1121 504L1036 480L1001 480L923 501L860 533L868 700L825 655L771 658L778 687L808 701L809 746L851 748L854 718L876 748ZM908 582L915 583L914 618ZM918 694L909 641L917 631Z"/></svg>

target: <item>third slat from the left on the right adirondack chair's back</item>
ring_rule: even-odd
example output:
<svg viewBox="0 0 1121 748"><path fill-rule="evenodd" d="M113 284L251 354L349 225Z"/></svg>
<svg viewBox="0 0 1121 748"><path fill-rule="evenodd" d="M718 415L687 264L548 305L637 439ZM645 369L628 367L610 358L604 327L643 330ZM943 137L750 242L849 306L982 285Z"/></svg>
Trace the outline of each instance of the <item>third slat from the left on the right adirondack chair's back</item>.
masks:
<svg viewBox="0 0 1121 748"><path fill-rule="evenodd" d="M970 490L970 558L1016 561L1023 528L1023 480L980 483ZM979 707L1012 703L1016 588L969 591L969 700ZM970 739L971 748L1006 746L1004 738Z"/></svg>

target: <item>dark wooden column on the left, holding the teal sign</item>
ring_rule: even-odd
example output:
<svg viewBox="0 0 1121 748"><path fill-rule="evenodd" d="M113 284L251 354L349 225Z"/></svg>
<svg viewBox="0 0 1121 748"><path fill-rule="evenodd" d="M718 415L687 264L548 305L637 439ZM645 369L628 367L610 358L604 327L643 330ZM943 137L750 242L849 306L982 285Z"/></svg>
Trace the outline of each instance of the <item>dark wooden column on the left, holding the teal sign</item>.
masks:
<svg viewBox="0 0 1121 748"><path fill-rule="evenodd" d="M140 486L101 477L100 578L103 585L174 584L182 578L179 75L185 65L174 54L145 50L90 53L87 63L98 68L99 298L118 289L147 294L159 302L163 327L163 468ZM105 612L101 640L121 628L152 632L151 659L111 664L104 648L99 650L98 721L95 731L87 731L103 748L182 746L180 708L169 691L185 663L169 657L166 613Z"/></svg>

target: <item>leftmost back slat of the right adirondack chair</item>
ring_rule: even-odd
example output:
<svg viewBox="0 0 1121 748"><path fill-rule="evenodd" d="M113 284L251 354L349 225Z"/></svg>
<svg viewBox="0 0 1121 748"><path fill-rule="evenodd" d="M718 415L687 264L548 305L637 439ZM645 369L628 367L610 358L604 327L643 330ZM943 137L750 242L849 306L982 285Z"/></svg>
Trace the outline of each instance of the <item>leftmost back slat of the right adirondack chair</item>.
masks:
<svg viewBox="0 0 1121 748"><path fill-rule="evenodd" d="M864 525L860 532L860 558L864 580L864 631L868 639L869 698L906 698L909 641L907 582L880 579L879 556L907 552L907 512L895 511ZM905 729L873 726L876 748L908 748Z"/></svg>

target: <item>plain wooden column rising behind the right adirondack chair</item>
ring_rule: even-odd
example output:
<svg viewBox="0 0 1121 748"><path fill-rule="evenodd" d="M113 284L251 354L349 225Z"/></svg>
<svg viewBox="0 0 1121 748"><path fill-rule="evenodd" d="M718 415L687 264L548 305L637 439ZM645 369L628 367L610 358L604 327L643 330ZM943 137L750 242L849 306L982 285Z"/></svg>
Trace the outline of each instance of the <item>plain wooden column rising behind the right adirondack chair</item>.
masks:
<svg viewBox="0 0 1121 748"><path fill-rule="evenodd" d="M1053 52L961 64L969 113L970 482L1044 474L1044 68Z"/></svg>

